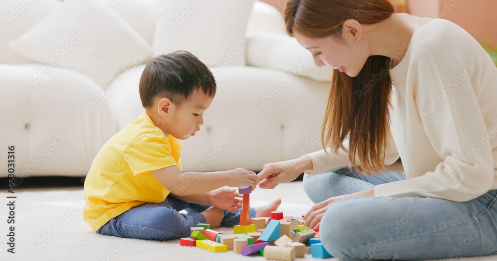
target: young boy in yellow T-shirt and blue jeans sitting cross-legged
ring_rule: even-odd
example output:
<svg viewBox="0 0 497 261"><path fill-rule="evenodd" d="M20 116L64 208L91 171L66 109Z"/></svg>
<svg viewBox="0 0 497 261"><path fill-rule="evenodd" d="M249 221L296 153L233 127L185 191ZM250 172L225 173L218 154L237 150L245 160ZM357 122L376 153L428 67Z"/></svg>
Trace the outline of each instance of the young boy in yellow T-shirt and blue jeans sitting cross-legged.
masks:
<svg viewBox="0 0 497 261"><path fill-rule="evenodd" d="M211 71L189 52L163 54L147 63L139 88L145 112L103 145L86 176L84 220L102 235L154 240L187 237L198 223L239 224L241 195L221 187L255 187L254 172L181 173L179 140L204 122L216 93ZM250 215L269 216L280 203Z"/></svg>

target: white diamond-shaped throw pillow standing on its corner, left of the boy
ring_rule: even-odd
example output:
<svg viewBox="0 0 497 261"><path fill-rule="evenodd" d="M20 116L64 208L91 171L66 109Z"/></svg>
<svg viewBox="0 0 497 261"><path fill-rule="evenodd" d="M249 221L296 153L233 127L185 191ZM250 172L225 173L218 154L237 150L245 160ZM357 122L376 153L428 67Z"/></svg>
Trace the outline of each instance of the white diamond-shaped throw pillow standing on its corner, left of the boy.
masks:
<svg viewBox="0 0 497 261"><path fill-rule="evenodd" d="M94 0L65 0L9 46L37 62L77 70L102 87L151 55L143 37Z"/></svg>

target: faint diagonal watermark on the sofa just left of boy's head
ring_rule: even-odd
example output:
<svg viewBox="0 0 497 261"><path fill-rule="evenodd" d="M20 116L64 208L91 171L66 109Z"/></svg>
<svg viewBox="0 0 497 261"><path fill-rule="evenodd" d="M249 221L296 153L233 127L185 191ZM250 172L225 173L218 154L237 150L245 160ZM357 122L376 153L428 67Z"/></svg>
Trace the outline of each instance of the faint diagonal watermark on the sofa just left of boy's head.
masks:
<svg viewBox="0 0 497 261"><path fill-rule="evenodd" d="M95 108L103 104L105 100L109 98L112 93L114 93L116 88L119 87L121 83L124 80L126 80L128 76L131 75L136 70L136 66L142 64L146 59L147 56L145 56L142 52L140 52L140 54L135 53L135 58L133 59L133 62L128 64L128 66L126 66L123 73L119 74L114 80L112 80L112 82L109 85L107 85L107 88L97 93L93 101L88 101L91 110L94 111Z"/></svg>

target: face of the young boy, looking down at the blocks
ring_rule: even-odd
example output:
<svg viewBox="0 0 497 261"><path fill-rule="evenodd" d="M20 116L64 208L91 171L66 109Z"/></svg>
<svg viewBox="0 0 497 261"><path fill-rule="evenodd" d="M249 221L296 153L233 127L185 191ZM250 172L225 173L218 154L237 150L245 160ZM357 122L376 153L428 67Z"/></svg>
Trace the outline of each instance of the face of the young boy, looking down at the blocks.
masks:
<svg viewBox="0 0 497 261"><path fill-rule="evenodd" d="M210 106L213 98L204 94L202 90L197 89L180 107L172 103L167 106L161 106L161 101L164 99L169 100L167 98L161 99L159 106L162 108L161 114L163 117L161 118L163 119L163 124L158 127L166 135L170 134L180 140L195 136L195 132L200 130L200 125L204 124L203 113Z"/></svg>

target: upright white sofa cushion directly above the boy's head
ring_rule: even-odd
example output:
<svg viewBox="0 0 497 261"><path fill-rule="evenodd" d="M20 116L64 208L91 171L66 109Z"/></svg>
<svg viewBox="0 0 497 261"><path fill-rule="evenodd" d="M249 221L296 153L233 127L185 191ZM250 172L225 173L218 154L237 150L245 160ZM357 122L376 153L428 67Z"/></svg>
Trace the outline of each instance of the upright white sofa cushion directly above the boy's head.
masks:
<svg viewBox="0 0 497 261"><path fill-rule="evenodd" d="M207 66L245 65L254 0L168 0L159 6L154 55L186 50Z"/></svg>

